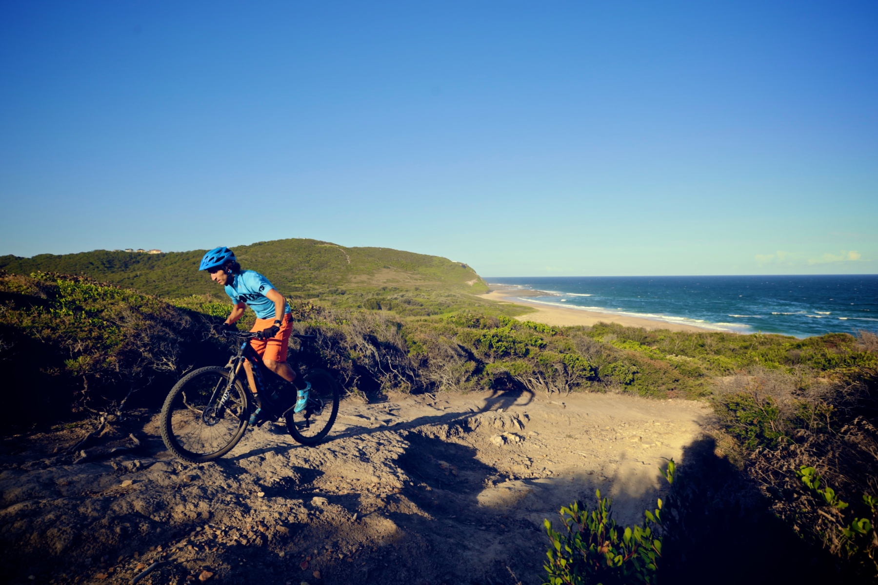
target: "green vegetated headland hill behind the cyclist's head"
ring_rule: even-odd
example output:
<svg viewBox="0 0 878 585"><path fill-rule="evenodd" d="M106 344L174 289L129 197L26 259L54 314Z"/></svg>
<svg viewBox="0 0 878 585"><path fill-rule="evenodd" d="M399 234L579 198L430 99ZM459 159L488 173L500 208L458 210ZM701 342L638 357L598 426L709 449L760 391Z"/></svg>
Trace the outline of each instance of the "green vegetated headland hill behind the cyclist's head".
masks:
<svg viewBox="0 0 878 585"><path fill-rule="evenodd" d="M32 258L8 255L0 256L0 270L18 275L53 272L89 276L167 298L217 294L218 287L198 272L205 252L148 254L95 250ZM391 248L349 248L316 239L278 239L235 246L234 252L243 268L268 276L278 290L292 298L344 296L348 292L386 293L388 289L412 293L487 291L475 270L463 263Z"/></svg>

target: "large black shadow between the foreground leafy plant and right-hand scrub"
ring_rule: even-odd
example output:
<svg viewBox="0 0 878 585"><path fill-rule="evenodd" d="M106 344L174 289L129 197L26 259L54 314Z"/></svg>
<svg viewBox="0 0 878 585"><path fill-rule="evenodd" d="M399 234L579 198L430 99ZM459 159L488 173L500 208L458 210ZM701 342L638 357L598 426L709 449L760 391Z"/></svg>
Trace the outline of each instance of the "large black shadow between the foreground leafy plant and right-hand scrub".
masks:
<svg viewBox="0 0 878 585"><path fill-rule="evenodd" d="M659 583L839 582L845 575L829 553L774 516L770 501L715 447L702 438L684 449L663 517Z"/></svg>

